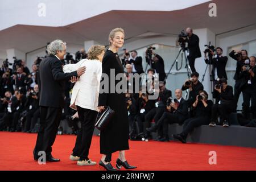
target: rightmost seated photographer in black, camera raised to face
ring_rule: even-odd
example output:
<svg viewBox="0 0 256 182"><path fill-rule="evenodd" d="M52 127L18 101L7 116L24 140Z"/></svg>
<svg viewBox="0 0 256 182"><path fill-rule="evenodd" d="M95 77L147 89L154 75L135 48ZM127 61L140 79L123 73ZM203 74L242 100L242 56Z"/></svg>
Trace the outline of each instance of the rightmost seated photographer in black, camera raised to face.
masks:
<svg viewBox="0 0 256 182"><path fill-rule="evenodd" d="M216 98L216 104L212 106L212 118L209 126L216 126L218 114L220 115L220 123L223 127L228 127L228 115L233 111L233 88L228 85L225 78L221 78L215 85L213 98Z"/></svg>

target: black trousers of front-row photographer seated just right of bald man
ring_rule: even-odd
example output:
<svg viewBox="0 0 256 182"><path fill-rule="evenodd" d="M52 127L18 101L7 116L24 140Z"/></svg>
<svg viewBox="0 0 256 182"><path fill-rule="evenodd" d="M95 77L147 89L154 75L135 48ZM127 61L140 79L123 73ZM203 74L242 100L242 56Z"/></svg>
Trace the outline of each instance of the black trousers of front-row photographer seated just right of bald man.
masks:
<svg viewBox="0 0 256 182"><path fill-rule="evenodd" d="M186 119L183 124L183 131L181 135L187 138L188 134L191 133L191 131L193 131L195 127L199 127L201 125L208 125L209 121L209 117L194 117Z"/></svg>

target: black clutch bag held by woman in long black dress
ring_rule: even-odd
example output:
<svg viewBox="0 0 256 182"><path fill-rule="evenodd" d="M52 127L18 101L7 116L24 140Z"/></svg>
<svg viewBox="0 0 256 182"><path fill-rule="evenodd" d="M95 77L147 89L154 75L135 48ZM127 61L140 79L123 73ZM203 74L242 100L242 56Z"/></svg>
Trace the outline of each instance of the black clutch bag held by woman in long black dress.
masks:
<svg viewBox="0 0 256 182"><path fill-rule="evenodd" d="M98 113L95 127L98 130L104 130L105 127L108 125L110 119L113 117L114 113L114 110L112 110L110 107L106 107L102 113Z"/></svg>

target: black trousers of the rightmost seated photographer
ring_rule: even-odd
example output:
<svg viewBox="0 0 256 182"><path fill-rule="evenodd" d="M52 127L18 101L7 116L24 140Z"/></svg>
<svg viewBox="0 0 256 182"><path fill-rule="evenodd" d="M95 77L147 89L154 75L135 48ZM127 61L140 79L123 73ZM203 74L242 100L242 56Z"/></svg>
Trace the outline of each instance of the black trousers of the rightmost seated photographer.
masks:
<svg viewBox="0 0 256 182"><path fill-rule="evenodd" d="M232 113L233 106L230 104L213 104L212 106L212 121L216 122L220 115L221 123L228 121L228 115Z"/></svg>

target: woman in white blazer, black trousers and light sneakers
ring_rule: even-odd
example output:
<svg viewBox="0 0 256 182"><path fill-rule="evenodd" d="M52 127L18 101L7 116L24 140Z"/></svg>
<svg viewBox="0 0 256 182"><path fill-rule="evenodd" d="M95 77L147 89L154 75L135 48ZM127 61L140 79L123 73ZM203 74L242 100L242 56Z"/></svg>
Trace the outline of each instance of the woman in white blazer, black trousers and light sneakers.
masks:
<svg viewBox="0 0 256 182"><path fill-rule="evenodd" d="M79 77L72 90L72 109L77 110L81 121L81 129L77 134L76 144L69 159L77 161L77 166L96 165L88 158L94 122L98 114L98 95L101 81L101 62L105 53L105 47L95 45L88 51L88 59L82 59L77 64L64 65L63 71L72 72L80 67L86 67L84 75Z"/></svg>

